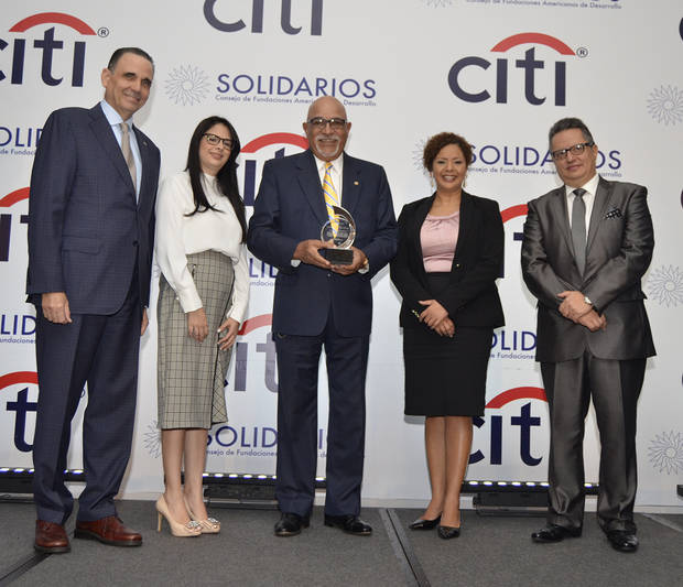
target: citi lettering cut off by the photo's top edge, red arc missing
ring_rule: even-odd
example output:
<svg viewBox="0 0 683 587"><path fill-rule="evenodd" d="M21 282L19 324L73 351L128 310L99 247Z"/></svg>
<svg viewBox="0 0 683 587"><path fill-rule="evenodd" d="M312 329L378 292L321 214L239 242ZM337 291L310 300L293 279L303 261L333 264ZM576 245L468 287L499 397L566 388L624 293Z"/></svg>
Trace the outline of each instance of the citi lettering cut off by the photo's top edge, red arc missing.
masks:
<svg viewBox="0 0 683 587"><path fill-rule="evenodd" d="M226 33L235 33L241 31L247 28L247 22L245 22L245 14L240 17L237 15L236 11L228 10L228 6L234 4L235 2L228 2L224 0L220 2L223 10L219 10L216 14L216 4L218 0L205 0L204 2L204 18L206 21L214 28L219 31ZM269 12L274 12L271 10L275 2L269 2ZM251 23L251 32L252 33L262 33L263 32L263 4L264 0L251 0L251 14L248 18ZM286 34L300 34L302 32L303 26L296 26L292 22L292 0L281 0L280 2L280 29L284 31ZM274 21L277 17L273 18L267 17L267 21ZM227 20L231 19L231 20ZM323 0L311 0L311 12L306 14L306 20L311 22L311 35L319 36L323 34Z"/></svg>

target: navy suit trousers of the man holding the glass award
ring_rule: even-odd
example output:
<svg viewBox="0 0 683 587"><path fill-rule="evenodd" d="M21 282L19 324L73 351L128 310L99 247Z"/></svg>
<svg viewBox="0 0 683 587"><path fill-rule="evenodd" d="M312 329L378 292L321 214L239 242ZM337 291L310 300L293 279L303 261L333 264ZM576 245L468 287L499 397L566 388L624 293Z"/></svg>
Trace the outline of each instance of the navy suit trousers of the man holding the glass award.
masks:
<svg viewBox="0 0 683 587"><path fill-rule="evenodd" d="M307 517L313 508L318 445L317 376L324 347L329 388L325 512L358 515L369 336L339 336L330 308L321 335L275 331L273 338L279 377L275 496L280 510Z"/></svg>

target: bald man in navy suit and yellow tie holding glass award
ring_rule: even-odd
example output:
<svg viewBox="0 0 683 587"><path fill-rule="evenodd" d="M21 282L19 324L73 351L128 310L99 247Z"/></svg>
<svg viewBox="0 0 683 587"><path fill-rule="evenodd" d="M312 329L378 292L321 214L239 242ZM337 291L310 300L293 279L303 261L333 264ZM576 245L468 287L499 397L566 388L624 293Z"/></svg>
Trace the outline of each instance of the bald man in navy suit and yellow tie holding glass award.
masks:
<svg viewBox="0 0 683 587"><path fill-rule="evenodd" d="M393 204L384 170L344 153L351 123L337 99L315 100L303 128L308 151L265 163L248 235L249 250L278 268L275 493L282 515L275 534L291 536L308 526L317 459L317 372L324 346L329 382L325 524L368 535L372 529L358 515L372 324L370 280L395 253ZM321 254L332 247L321 240L321 228L329 220L323 185L356 222L350 264L332 264Z"/></svg>

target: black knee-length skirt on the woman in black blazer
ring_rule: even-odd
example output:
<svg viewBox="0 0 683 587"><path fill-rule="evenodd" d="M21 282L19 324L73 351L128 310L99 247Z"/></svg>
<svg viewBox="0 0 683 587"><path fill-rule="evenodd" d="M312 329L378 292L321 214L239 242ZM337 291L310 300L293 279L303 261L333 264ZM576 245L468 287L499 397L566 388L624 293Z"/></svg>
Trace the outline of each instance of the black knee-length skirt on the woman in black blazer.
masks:
<svg viewBox="0 0 683 587"><path fill-rule="evenodd" d="M447 273L427 273L436 296L447 286ZM423 416L484 415L486 370L492 328L465 328L440 336L418 322L403 328L405 414Z"/></svg>

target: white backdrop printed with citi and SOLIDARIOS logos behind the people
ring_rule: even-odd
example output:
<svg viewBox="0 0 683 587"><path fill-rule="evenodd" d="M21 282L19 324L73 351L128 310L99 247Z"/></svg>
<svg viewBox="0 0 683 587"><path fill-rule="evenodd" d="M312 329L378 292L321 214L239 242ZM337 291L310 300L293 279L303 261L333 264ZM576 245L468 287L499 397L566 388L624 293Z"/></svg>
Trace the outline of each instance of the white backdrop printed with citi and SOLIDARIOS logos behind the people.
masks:
<svg viewBox="0 0 683 587"><path fill-rule="evenodd" d="M657 4L657 6L654 6ZM102 96L119 46L156 64L135 122L162 151L162 177L183 169L206 116L227 117L245 145L240 187L251 214L263 163L305 149L310 102L333 95L354 127L347 151L382 164L398 213L427 195L425 140L463 134L475 148L467 189L494 197L506 227L487 409L475 421L469 479L544 480L548 405L535 349L534 301L520 275L525 203L559 185L548 129L578 116L600 149L599 173L649 187L654 258L643 281L658 356L638 418L640 506L675 506L683 482L683 8L677 0L181 0L4 3L0 15L0 466L30 466L37 385L35 313L24 302L29 180L41 128L65 106ZM249 258L251 301L228 373L229 422L209 433L207 468L273 474L278 372L271 334L275 270ZM154 281L158 280L155 271ZM375 280L367 382L364 497L429 497L423 422L403 415L399 297ZM156 295L154 284L153 296ZM155 315L155 302L150 308ZM133 454L126 494L162 487L156 428L156 328L142 339ZM82 465L84 391L69 466ZM319 392L319 471L327 392ZM586 432L587 479L599 442Z"/></svg>

